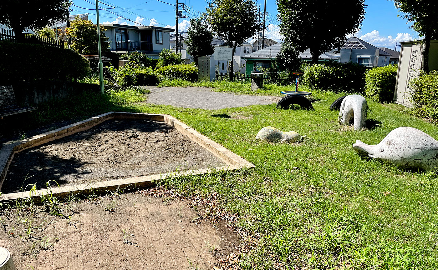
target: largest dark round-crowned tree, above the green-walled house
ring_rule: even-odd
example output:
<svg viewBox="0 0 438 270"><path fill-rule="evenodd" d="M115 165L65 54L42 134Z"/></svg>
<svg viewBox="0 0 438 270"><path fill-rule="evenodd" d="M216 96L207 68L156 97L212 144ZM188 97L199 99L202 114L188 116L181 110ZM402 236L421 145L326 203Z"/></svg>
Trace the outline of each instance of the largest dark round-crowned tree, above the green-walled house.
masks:
<svg viewBox="0 0 438 270"><path fill-rule="evenodd" d="M285 41L300 52L310 49L313 63L357 32L365 14L364 0L277 0L277 4Z"/></svg>

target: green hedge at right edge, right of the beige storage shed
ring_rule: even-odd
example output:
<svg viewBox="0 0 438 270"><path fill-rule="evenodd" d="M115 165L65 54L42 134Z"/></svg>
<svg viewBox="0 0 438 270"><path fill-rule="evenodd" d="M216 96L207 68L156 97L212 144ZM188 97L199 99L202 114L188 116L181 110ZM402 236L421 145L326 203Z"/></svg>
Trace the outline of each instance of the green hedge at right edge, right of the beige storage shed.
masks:
<svg viewBox="0 0 438 270"><path fill-rule="evenodd" d="M411 81L414 113L419 117L438 120L438 70L421 74Z"/></svg>

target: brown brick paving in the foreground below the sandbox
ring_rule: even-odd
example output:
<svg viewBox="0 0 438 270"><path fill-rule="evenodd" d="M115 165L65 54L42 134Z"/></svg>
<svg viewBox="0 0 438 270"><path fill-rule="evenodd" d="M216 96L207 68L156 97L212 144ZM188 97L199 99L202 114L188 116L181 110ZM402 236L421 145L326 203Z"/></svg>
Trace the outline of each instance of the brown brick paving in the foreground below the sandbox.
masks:
<svg viewBox="0 0 438 270"><path fill-rule="evenodd" d="M57 218L46 229L46 235L59 240L54 249L32 259L13 257L15 265L26 270L212 269L217 261L211 251L220 237L211 224L196 225L198 216L180 200L162 203L147 196L139 201L144 203L127 203L115 213L100 206L101 210L74 214L71 221ZM11 244L0 241L9 250L14 249Z"/></svg>

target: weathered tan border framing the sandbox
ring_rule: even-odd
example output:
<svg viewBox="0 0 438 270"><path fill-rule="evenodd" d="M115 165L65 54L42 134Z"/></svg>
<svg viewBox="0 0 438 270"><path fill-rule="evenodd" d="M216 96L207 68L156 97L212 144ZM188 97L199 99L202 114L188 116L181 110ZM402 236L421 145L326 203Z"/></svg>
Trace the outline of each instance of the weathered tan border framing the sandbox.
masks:
<svg viewBox="0 0 438 270"><path fill-rule="evenodd" d="M177 120L171 115L166 114L152 114L152 113L134 113L134 112L107 112L99 116L95 116L84 121L74 123L68 126L61 127L56 130L52 130L46 133L42 133L25 140L15 142L13 144L5 144L0 149L0 168L2 169L0 174L0 190L3 186L4 179L7 175L9 165L11 165L12 159L16 153L19 153L25 149L36 147L47 142L58 140L63 137L78 133L84 130L88 130L93 126L99 125L110 119L148 119L157 122L164 122L173 126L180 133L186 135L191 140L199 144L201 147L214 154L216 157L225 162L226 166L212 167L205 169L196 169L190 171L170 172L156 175L146 175L138 177L130 177L124 179L115 179L108 181L92 182L75 186L61 186L52 187L49 189L38 189L36 191L25 191L17 193L6 193L0 196L0 201L4 200L17 200L23 198L39 198L40 195L52 194L53 196L66 196L77 193L89 194L91 192L99 192L105 190L117 190L127 187L149 187L159 182L162 179L177 177L177 176L189 176L189 175L201 175L217 171L231 171L241 168L253 168L250 162L244 158L239 157L230 150L226 149L220 144L215 143L213 140L202 135L198 131L194 130L190 126L187 126L183 122Z"/></svg>

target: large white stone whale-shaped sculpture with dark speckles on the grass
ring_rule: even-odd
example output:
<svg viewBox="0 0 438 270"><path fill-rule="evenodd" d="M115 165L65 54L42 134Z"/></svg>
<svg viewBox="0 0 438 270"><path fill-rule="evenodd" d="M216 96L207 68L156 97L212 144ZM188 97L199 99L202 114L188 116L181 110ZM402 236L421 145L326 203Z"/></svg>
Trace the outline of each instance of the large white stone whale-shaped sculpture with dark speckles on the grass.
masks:
<svg viewBox="0 0 438 270"><path fill-rule="evenodd" d="M413 127L398 127L376 145L357 140L354 151L361 158L375 158L404 168L438 167L438 141Z"/></svg>

